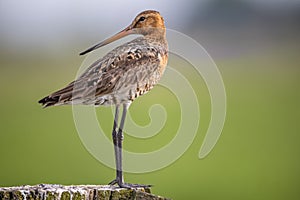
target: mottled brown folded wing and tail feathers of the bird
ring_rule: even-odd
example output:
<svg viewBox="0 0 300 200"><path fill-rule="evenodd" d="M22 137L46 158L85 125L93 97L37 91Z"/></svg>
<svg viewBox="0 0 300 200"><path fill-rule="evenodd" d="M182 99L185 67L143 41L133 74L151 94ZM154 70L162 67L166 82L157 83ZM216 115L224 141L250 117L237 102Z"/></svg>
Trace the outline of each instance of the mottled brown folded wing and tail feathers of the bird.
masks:
<svg viewBox="0 0 300 200"><path fill-rule="evenodd" d="M45 107L61 104L96 104L102 96L118 94L155 82L160 48L141 37L117 47L94 62L77 80L41 99ZM152 80L153 79L153 80Z"/></svg>

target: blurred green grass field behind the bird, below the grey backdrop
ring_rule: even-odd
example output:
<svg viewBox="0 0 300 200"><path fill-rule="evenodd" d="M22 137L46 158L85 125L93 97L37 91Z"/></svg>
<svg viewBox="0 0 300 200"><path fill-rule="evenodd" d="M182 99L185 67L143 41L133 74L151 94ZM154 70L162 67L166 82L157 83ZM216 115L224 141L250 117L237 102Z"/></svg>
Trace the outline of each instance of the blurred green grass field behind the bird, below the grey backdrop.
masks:
<svg viewBox="0 0 300 200"><path fill-rule="evenodd" d="M289 48L289 47L288 47ZM205 86L200 99L201 126L188 151L172 165L126 181L154 184L153 192L174 199L298 199L299 57L297 47L261 55L218 60L227 91L227 119L214 150L203 160L199 148L209 120ZM74 60L75 59L75 60ZM80 65L74 57L6 57L0 68L0 185L36 183L106 184L114 170L94 159L76 133L69 106L42 109L37 101L71 81ZM183 66L184 67L184 66ZM191 80L193 73L188 73ZM140 125L149 123L148 106L166 105L163 131L149 139L126 137L125 148L143 152L172 138L177 101L156 88L131 107ZM99 108L99 116L110 114ZM104 130L110 135L111 117ZM103 149L112 151L112 149ZM180 189L179 189L180 188Z"/></svg>

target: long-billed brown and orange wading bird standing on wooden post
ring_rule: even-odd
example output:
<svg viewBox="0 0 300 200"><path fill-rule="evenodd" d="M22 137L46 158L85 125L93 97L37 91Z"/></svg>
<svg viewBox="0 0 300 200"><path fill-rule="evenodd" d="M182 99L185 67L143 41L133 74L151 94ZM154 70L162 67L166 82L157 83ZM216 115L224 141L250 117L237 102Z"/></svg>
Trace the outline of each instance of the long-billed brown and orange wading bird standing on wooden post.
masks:
<svg viewBox="0 0 300 200"><path fill-rule="evenodd" d="M124 182L122 170L123 128L131 103L158 83L167 66L168 43L164 19L158 11L143 11L134 18L128 27L79 54L85 55L131 34L139 35L139 37L114 48L91 64L66 87L39 100L43 107L58 105L115 106L112 140L116 178L109 184L118 185L120 188L151 187L151 185ZM121 107L122 116L119 120Z"/></svg>

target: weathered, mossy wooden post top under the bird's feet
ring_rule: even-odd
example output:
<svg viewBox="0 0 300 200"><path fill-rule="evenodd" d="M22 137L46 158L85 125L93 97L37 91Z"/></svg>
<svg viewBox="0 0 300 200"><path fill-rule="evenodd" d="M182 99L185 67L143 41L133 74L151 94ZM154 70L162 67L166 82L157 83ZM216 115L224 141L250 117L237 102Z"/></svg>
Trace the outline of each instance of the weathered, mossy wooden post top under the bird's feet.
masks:
<svg viewBox="0 0 300 200"><path fill-rule="evenodd" d="M0 187L1 200L167 200L150 193L150 189L125 189L109 185L39 184Z"/></svg>

